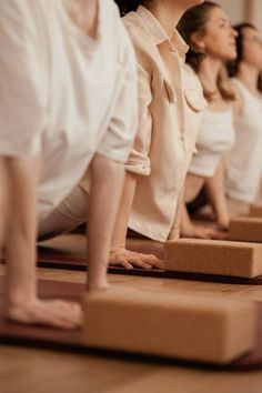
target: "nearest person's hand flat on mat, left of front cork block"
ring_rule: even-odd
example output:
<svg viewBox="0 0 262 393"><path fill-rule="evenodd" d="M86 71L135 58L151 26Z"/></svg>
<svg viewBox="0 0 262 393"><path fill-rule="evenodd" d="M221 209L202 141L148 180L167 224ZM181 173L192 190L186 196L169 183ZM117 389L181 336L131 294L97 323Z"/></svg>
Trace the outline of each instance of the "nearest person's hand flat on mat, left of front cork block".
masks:
<svg viewBox="0 0 262 393"><path fill-rule="evenodd" d="M74 330L82 324L82 311L78 303L62 300L34 299L23 304L8 304L6 306L8 320L24 323L40 324L58 329Z"/></svg>

